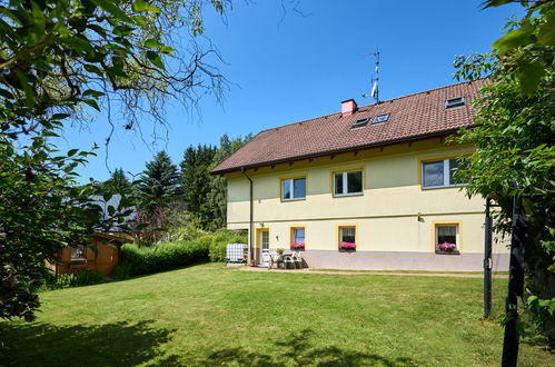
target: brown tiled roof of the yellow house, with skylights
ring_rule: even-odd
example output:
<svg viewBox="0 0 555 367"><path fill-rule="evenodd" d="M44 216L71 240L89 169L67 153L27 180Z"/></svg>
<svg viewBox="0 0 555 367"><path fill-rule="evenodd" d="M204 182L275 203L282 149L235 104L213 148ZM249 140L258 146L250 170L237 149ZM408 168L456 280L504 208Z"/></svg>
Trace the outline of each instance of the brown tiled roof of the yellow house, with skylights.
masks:
<svg viewBox="0 0 555 367"><path fill-rule="evenodd" d="M484 79L462 82L359 107L348 117L338 112L264 130L211 173L447 135L473 123L470 101L485 82ZM446 110L445 101L457 97L465 98L465 106ZM370 125L374 117L381 113L390 113L389 120ZM369 118L368 125L351 129L353 123L363 118Z"/></svg>

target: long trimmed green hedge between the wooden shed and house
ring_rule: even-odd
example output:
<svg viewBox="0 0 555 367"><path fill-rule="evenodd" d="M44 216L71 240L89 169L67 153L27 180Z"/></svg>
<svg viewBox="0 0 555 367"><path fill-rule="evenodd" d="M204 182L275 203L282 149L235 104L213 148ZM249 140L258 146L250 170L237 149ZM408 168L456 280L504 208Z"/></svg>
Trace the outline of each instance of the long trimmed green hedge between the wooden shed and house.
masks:
<svg viewBox="0 0 555 367"><path fill-rule="evenodd" d="M208 260L208 249L207 240L159 242L151 247L125 245L121 247L122 261L115 274L122 279L176 269Z"/></svg>

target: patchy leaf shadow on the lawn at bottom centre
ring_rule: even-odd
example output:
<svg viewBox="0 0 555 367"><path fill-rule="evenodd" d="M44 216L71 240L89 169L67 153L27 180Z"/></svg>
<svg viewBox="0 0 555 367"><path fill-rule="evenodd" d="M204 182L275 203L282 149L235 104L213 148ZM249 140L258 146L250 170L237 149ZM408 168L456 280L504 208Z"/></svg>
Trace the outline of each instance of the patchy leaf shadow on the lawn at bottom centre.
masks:
<svg viewBox="0 0 555 367"><path fill-rule="evenodd" d="M417 366L410 358L386 358L376 354L344 349L339 346L316 347L318 336L310 329L293 333L283 340L274 341L279 355L250 351L242 347L220 349L199 363L202 366Z"/></svg>

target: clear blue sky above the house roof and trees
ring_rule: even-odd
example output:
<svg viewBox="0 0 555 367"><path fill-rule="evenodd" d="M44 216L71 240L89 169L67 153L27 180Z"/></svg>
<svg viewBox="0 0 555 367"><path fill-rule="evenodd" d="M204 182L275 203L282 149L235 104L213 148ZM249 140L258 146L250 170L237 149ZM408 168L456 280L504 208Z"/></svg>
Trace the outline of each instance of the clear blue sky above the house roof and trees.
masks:
<svg viewBox="0 0 555 367"><path fill-rule="evenodd" d="M170 107L168 138L157 143L151 143L149 127L142 138L117 129L108 159L103 148L98 150L79 168L81 181L105 180L109 169L119 167L138 173L161 149L178 163L190 145L215 145L225 132L256 135L333 113L348 98L370 103L361 93L369 92L375 60L363 53L376 49L381 52L381 100L453 83L454 57L487 51L503 34L505 19L519 12L516 4L480 10L480 2L303 0L301 16L290 9L284 14L281 0L238 0L225 22L209 11L206 36L226 61L220 71L232 82L224 103L202 99L201 118ZM66 129L58 146L103 146L108 133L106 118L97 116L87 129Z"/></svg>

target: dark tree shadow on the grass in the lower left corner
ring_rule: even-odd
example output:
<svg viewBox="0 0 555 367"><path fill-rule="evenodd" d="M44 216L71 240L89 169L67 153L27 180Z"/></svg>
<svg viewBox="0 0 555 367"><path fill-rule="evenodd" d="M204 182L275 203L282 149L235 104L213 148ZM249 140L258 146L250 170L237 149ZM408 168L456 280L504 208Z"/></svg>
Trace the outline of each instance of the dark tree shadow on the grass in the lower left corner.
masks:
<svg viewBox="0 0 555 367"><path fill-rule="evenodd" d="M136 366L162 357L158 347L175 330L135 324L53 326L43 323L0 325L7 366ZM2 363L0 361L0 365Z"/></svg>

